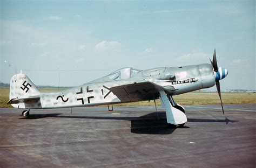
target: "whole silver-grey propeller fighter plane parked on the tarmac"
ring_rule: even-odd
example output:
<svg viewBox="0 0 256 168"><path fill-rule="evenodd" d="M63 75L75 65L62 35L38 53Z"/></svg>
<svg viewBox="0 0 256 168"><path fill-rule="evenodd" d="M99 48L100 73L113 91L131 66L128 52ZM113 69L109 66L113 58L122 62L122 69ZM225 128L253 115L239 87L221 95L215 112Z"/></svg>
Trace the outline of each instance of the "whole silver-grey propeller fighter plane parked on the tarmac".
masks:
<svg viewBox="0 0 256 168"><path fill-rule="evenodd" d="M19 73L11 78L10 100L7 104L25 109L22 115L29 116L30 109L87 107L103 104L109 107L117 103L160 98L162 106L166 109L167 123L182 127L187 122L185 109L176 103L172 96L216 85L223 109L219 81L227 74L227 69L217 66L215 50L211 64L160 67L143 71L131 67L122 68L62 92L40 92L28 76Z"/></svg>

